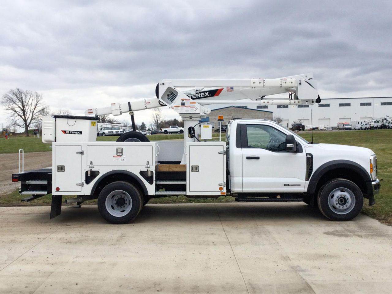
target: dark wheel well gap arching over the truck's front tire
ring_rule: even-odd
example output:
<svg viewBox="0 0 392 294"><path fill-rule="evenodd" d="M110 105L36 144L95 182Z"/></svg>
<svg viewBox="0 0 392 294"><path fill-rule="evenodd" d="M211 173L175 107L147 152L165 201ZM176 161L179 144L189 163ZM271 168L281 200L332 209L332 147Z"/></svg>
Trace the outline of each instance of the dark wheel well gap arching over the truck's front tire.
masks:
<svg viewBox="0 0 392 294"><path fill-rule="evenodd" d="M319 192L319 189L327 183L327 181L332 180L332 179L346 179L349 181L352 181L355 183L359 189L365 194L366 191L366 182L363 180L362 175L359 172L353 171L352 169L347 169L347 168L337 168L337 169L331 169L330 171L325 172L319 179L317 185L316 185L316 190L314 191L314 198L315 198L315 203L317 199L317 195Z"/></svg>

